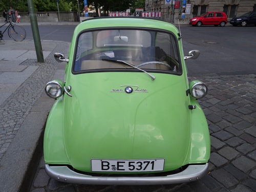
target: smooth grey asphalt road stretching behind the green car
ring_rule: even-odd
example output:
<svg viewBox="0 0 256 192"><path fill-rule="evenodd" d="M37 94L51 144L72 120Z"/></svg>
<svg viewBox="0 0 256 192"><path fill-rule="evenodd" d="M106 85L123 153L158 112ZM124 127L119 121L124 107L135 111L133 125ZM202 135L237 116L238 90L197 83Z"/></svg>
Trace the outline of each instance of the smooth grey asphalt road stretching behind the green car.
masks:
<svg viewBox="0 0 256 192"><path fill-rule="evenodd" d="M41 40L71 42L75 25L38 26ZM33 39L30 26L24 26L27 39ZM189 75L217 73L235 75L256 73L256 27L180 26L183 49L199 50L196 60L187 60Z"/></svg>

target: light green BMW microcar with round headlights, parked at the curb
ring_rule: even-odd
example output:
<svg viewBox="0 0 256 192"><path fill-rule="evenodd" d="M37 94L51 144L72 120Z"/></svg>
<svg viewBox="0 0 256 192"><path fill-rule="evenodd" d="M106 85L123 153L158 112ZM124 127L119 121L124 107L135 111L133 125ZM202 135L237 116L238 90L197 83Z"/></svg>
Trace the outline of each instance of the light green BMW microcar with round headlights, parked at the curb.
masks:
<svg viewBox="0 0 256 192"><path fill-rule="evenodd" d="M47 83L56 99L44 137L47 174L61 182L155 185L206 172L210 137L188 81L181 35L150 18L98 17L74 30L65 81Z"/></svg>

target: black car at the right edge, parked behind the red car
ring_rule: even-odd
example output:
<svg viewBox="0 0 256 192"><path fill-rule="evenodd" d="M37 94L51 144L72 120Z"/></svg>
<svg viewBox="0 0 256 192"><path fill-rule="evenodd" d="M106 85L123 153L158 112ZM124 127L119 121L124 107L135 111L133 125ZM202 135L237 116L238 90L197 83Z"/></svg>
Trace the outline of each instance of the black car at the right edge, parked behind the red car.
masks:
<svg viewBox="0 0 256 192"><path fill-rule="evenodd" d="M239 17L234 17L230 20L230 24L233 26L241 25L242 27L248 25L256 26L256 12L248 12Z"/></svg>

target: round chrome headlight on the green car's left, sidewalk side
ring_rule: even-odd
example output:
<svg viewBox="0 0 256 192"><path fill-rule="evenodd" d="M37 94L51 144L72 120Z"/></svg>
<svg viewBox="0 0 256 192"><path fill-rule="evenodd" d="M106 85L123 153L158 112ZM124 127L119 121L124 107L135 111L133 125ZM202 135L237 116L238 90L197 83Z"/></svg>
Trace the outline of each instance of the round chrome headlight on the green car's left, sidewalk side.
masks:
<svg viewBox="0 0 256 192"><path fill-rule="evenodd" d="M46 84L46 94L51 98L58 98L63 94L64 83L61 80L53 80Z"/></svg>

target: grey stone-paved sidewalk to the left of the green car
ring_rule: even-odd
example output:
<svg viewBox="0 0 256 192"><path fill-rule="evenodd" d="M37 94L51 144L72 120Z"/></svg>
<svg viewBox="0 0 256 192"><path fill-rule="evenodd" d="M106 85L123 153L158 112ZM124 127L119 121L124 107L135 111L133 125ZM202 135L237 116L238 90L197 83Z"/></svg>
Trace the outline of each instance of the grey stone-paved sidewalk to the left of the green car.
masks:
<svg viewBox="0 0 256 192"><path fill-rule="evenodd" d="M69 43L43 40L41 45L44 63L37 62L33 40L0 42L0 191L19 191L25 180L29 184L33 179L30 168L41 157L54 102L44 87L49 80L63 79L65 63L57 63L53 53L68 55Z"/></svg>

